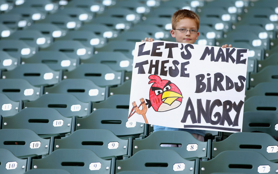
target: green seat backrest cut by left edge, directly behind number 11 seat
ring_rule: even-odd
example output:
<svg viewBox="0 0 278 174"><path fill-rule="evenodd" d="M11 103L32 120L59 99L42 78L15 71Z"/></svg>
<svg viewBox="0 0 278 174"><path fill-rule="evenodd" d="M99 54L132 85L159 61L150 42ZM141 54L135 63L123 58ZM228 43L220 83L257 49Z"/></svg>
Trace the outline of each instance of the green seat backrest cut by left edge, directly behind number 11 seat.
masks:
<svg viewBox="0 0 278 174"><path fill-rule="evenodd" d="M20 85L18 85L20 84ZM25 79L0 79L0 93L4 93L13 101L33 101L39 98L41 88L32 86Z"/></svg>

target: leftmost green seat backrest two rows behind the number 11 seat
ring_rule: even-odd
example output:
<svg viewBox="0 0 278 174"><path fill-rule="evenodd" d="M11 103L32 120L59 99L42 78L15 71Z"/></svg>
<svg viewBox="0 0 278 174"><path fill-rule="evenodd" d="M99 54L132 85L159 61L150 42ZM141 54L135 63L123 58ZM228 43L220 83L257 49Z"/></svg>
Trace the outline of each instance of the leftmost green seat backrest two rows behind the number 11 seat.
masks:
<svg viewBox="0 0 278 174"><path fill-rule="evenodd" d="M47 86L58 83L59 72L45 64L19 65L12 71L2 73L3 79L25 79L33 86Z"/></svg>

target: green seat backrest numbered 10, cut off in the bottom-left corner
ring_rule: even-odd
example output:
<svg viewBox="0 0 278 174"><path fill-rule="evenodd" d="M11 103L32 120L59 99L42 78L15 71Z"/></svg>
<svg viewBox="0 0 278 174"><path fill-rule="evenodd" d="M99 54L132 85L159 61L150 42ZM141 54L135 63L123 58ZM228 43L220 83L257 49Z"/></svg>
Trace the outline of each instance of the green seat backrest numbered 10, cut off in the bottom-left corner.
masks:
<svg viewBox="0 0 278 174"><path fill-rule="evenodd" d="M0 148L0 164L0 173L22 174L26 171L27 159L19 159L11 151Z"/></svg>

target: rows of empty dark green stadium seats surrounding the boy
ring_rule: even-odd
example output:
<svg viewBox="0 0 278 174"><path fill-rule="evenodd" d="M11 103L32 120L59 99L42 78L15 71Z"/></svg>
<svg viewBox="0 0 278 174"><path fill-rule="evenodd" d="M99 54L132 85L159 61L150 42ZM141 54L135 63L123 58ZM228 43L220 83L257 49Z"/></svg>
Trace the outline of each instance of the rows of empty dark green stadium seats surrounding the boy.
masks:
<svg viewBox="0 0 278 174"><path fill-rule="evenodd" d="M135 42L248 48L242 133L128 121ZM0 0L0 173L278 173L276 0Z"/></svg>

